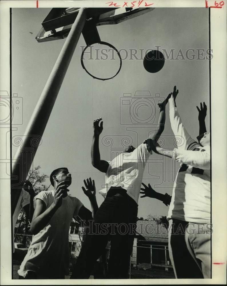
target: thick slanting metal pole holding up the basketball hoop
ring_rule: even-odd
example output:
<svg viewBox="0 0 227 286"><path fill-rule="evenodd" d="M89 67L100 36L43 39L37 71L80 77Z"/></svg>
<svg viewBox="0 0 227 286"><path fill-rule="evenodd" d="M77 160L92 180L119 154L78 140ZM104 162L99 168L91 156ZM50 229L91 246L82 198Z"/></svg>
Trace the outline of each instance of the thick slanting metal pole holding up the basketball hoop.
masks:
<svg viewBox="0 0 227 286"><path fill-rule="evenodd" d="M58 92L61 88L61 84L78 43L82 29L85 25L85 21L85 9L80 8L31 116L25 131L25 139L15 155L11 176L11 215L14 213L23 182L31 168L33 158L41 142L41 137L45 130Z"/></svg>

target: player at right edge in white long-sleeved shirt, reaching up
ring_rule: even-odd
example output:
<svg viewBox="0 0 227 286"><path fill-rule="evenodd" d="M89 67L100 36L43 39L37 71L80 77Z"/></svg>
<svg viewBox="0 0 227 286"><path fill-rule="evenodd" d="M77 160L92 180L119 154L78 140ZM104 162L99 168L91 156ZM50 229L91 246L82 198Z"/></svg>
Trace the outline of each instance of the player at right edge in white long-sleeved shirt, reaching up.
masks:
<svg viewBox="0 0 227 286"><path fill-rule="evenodd" d="M149 139L152 150L181 163L168 212L169 252L176 278L210 278L210 134L193 140L176 108L178 90L169 99L170 123L178 148L164 150Z"/></svg>

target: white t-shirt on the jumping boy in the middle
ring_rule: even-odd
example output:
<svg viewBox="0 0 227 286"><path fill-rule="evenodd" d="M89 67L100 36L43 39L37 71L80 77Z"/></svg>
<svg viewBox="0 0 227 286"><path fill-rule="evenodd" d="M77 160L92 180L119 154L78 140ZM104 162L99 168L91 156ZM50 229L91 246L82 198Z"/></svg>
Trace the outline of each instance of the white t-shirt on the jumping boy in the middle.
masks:
<svg viewBox="0 0 227 286"><path fill-rule="evenodd" d="M110 187L122 187L138 204L144 168L150 153L147 145L140 144L133 152L121 153L111 162L105 176L105 188L99 194L106 196Z"/></svg>

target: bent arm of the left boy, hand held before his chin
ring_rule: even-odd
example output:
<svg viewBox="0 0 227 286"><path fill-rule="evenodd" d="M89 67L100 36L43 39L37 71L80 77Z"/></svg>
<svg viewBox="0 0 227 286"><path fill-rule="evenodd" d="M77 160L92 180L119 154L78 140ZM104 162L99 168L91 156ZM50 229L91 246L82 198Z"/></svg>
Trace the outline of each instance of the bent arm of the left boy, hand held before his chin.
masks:
<svg viewBox="0 0 227 286"><path fill-rule="evenodd" d="M53 203L46 208L46 204L43 200L37 198L35 200L35 210L33 219L31 222L30 231L33 235L41 231L50 221L53 214L62 204L62 191L67 188L65 181L59 182L54 190L54 200Z"/></svg>

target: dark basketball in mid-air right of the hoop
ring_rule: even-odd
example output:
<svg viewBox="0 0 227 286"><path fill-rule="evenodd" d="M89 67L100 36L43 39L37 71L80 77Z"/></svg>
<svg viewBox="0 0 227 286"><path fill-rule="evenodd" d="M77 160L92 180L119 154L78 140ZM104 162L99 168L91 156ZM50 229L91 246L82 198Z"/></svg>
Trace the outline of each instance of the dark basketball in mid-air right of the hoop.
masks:
<svg viewBox="0 0 227 286"><path fill-rule="evenodd" d="M144 68L147 72L159 72L165 63L163 53L158 50L149 51L144 57Z"/></svg>

